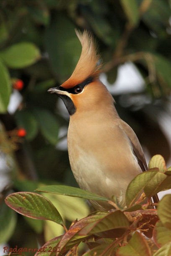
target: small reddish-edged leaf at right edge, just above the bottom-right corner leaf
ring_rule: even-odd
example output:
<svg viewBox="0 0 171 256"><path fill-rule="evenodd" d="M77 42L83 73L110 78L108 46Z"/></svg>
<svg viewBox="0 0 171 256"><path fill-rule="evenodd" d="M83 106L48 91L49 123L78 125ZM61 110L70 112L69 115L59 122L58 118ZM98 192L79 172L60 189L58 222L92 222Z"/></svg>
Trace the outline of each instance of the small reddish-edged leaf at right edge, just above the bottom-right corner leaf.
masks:
<svg viewBox="0 0 171 256"><path fill-rule="evenodd" d="M158 247L171 241L171 229L164 227L161 221L156 222L153 230L153 239Z"/></svg>

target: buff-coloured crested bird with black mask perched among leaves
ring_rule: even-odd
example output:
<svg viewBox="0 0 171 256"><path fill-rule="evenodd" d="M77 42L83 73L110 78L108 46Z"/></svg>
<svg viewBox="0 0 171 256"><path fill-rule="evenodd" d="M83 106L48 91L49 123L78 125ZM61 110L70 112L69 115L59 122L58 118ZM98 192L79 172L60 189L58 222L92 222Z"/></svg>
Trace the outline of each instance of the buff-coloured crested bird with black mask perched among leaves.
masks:
<svg viewBox="0 0 171 256"><path fill-rule="evenodd" d="M140 142L118 115L115 101L100 81L96 42L88 31L76 30L82 45L78 63L60 86L50 88L64 102L70 122L67 147L70 167L80 188L125 207L127 186L148 169ZM91 201L95 209L110 210L107 202Z"/></svg>

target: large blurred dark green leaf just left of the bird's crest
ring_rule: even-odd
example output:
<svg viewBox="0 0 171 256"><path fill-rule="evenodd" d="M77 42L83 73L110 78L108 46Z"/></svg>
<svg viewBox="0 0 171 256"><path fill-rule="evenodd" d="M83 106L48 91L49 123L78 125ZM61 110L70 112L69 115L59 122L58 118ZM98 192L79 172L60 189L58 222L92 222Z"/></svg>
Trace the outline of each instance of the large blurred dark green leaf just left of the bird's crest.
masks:
<svg viewBox="0 0 171 256"><path fill-rule="evenodd" d="M75 25L67 16L56 13L45 33L45 44L53 72L60 83L71 76L81 53ZM67 31L67 33L66 33Z"/></svg>

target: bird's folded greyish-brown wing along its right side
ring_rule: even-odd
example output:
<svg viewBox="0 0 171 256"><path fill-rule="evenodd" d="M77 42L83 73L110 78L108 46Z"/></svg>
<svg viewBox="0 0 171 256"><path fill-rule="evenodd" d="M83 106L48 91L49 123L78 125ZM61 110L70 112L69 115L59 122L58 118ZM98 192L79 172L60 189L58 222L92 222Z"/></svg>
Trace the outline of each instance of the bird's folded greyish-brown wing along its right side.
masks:
<svg viewBox="0 0 171 256"><path fill-rule="evenodd" d="M138 164L140 165L142 172L148 170L144 152L142 150L140 141L138 140L135 132L132 130L130 125L125 123L122 119L121 119L120 124L121 124L121 128L124 130L124 132L127 134L128 138L130 139L130 143L132 144L133 153L135 154L135 157L137 157ZM157 194L155 196L153 196L153 201L154 201L154 203L159 202Z"/></svg>

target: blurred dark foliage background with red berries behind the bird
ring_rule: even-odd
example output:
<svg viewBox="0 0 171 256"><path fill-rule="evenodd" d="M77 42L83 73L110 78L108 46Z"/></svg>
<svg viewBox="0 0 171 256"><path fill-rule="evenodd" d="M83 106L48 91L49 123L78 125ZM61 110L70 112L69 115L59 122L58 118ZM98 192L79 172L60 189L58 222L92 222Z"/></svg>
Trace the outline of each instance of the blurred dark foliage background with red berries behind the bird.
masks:
<svg viewBox="0 0 171 256"><path fill-rule="evenodd" d="M67 154L69 115L61 99L47 93L78 62L75 28L95 37L100 79L147 162L162 154L171 165L171 0L1 0L1 255L5 245L37 248L63 232L53 222L16 214L5 196L42 184L78 186ZM81 199L46 196L66 225L89 212Z"/></svg>

